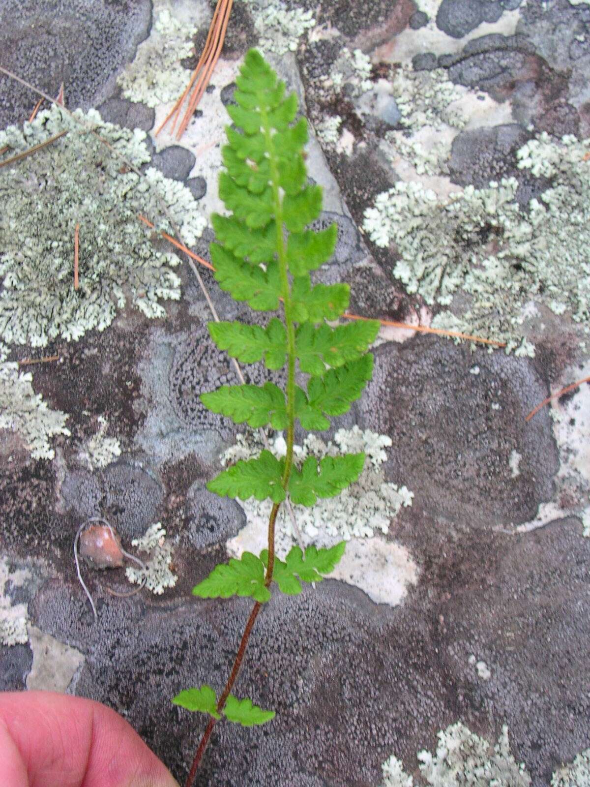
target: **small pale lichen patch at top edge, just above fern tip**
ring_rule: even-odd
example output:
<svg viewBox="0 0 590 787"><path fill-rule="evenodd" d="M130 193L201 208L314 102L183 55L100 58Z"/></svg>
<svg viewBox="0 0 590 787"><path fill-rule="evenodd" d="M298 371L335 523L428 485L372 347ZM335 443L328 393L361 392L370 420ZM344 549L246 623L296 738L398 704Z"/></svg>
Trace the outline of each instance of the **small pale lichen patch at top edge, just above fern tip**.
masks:
<svg viewBox="0 0 590 787"><path fill-rule="evenodd" d="M260 35L258 49L263 54L294 52L299 39L315 27L311 10L289 8L282 0L245 0L254 18L254 27Z"/></svg>

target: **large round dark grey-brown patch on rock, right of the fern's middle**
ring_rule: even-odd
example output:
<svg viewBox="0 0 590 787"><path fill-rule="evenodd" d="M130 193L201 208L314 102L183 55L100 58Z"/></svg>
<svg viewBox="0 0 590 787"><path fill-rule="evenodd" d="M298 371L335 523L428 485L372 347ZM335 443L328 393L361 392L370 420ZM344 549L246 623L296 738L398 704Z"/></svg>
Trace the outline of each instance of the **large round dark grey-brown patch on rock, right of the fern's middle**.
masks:
<svg viewBox="0 0 590 787"><path fill-rule="evenodd" d="M511 526L551 497L558 457L549 416L525 423L546 390L522 358L415 338L377 349L367 418L392 438L392 477L428 515L465 527ZM513 477L514 451L521 459Z"/></svg>

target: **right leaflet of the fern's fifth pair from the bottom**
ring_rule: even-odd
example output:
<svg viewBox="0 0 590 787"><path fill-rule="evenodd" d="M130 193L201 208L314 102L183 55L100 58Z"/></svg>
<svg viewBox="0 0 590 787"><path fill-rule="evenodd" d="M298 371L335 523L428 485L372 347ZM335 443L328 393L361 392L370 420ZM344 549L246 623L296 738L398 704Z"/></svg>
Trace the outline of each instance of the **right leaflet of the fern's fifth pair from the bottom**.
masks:
<svg viewBox="0 0 590 787"><path fill-rule="evenodd" d="M301 371L308 375L323 375L326 366L337 368L348 360L367 352L378 334L378 320L348 323L330 328L326 324L319 328L304 323L297 329L295 352Z"/></svg>

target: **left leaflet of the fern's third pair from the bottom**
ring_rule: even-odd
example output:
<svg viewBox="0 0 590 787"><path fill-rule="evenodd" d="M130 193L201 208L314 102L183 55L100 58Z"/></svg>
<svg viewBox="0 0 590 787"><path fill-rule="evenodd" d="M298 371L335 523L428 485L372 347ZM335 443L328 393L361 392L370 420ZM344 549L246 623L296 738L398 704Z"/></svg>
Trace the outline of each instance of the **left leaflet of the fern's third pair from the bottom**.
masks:
<svg viewBox="0 0 590 787"><path fill-rule="evenodd" d="M240 500L270 497L273 503L280 503L285 500L282 464L270 451L263 451L257 459L239 460L220 472L208 482L207 489L219 497L239 497Z"/></svg>

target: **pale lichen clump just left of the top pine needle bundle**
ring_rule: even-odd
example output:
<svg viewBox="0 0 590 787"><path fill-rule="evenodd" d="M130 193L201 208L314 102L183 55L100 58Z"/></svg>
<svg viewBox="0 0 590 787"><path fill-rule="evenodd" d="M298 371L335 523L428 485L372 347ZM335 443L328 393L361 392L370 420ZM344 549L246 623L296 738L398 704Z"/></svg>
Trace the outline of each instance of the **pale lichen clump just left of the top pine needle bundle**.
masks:
<svg viewBox="0 0 590 787"><path fill-rule="evenodd" d="M151 107L178 98L190 74L180 61L193 54L196 32L168 8L160 11L149 38L139 44L135 59L117 77L124 97Z"/></svg>

